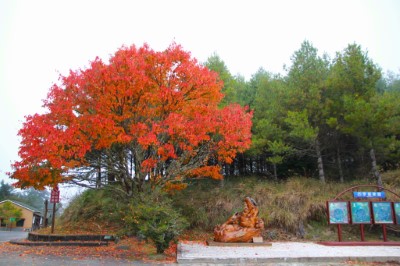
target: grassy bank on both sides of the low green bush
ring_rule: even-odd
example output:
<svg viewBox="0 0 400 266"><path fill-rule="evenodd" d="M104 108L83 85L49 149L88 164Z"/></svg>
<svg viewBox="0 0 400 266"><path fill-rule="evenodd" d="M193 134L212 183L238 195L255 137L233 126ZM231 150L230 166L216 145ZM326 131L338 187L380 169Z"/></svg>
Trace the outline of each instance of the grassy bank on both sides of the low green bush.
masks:
<svg viewBox="0 0 400 266"><path fill-rule="evenodd" d="M400 170L384 173L383 181L385 187L400 195ZM189 229L181 234L181 240L212 240L214 227L242 211L244 198L250 196L258 203L259 215L265 221L265 239L336 241L336 226L327 222L326 201L360 184L375 183L371 179L358 179L343 184L321 184L304 177L292 177L284 182L257 177L226 178L223 182L192 180L187 189L172 195L171 200L174 208L189 222ZM351 200L351 193L347 193L345 199ZM130 213L129 200L107 190L87 192L71 202L56 222L55 233L118 234L126 229L123 220L127 213ZM400 229L398 225L393 228ZM400 241L398 235L388 229L389 240ZM343 226L344 240L355 241L359 237L359 226ZM380 240L381 226L366 226L365 237L368 241Z"/></svg>

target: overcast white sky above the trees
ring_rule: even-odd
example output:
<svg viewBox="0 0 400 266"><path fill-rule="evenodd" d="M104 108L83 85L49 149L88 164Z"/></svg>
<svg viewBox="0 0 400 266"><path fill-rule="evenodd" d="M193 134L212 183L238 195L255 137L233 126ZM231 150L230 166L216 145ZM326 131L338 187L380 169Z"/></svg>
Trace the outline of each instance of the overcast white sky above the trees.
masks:
<svg viewBox="0 0 400 266"><path fill-rule="evenodd" d="M0 180L18 160L24 116L41 112L59 74L122 45L176 42L249 79L260 67L282 72L304 40L331 57L355 42L399 73L399 33L398 0L0 0Z"/></svg>

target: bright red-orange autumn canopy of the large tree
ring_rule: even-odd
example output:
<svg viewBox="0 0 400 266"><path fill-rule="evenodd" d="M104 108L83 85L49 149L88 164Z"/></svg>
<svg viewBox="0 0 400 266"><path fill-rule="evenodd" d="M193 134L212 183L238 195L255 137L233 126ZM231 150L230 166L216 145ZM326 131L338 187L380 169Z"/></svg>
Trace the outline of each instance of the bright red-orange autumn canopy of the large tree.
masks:
<svg viewBox="0 0 400 266"><path fill-rule="evenodd" d="M222 86L179 45L122 47L51 87L47 111L19 131L9 175L22 188L116 183L128 194L146 181L222 178L218 164L249 148L252 118L236 104L218 107Z"/></svg>

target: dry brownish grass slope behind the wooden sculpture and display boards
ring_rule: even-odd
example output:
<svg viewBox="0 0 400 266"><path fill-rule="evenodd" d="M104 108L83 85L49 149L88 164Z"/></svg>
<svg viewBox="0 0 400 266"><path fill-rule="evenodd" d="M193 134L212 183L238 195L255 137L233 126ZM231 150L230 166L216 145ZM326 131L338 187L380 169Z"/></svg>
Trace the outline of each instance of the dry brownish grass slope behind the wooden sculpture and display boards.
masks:
<svg viewBox="0 0 400 266"><path fill-rule="evenodd" d="M400 171L383 176L385 187L399 194L397 184ZM265 221L265 239L336 241L336 227L328 225L326 201L352 186L375 185L373 181L359 179L321 184L319 180L304 177L293 177L278 183L257 177L227 178L223 182L194 180L186 190L174 196L174 203L183 210L192 230L212 234L217 224L225 222L233 213L242 211L244 198L250 196L258 203L259 215ZM351 200L352 194L347 193L344 199ZM392 197L392 200L395 199ZM394 231L388 234L400 240ZM343 235L355 240L359 238L359 227L344 226ZM379 230L371 229L368 237L373 238L373 235L379 238Z"/></svg>

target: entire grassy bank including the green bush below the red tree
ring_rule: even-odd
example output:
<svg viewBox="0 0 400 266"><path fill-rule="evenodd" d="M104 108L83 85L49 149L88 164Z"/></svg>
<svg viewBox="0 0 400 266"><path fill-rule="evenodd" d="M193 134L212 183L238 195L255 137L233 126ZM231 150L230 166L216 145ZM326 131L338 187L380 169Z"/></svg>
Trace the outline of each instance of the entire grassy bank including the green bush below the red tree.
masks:
<svg viewBox="0 0 400 266"><path fill-rule="evenodd" d="M399 177L400 171L385 173L385 187L400 194ZM70 203L60 218L60 227L70 228L69 232L86 228L121 237L137 236L151 241L162 253L179 236L189 240L212 239L214 227L242 211L243 199L251 196L266 224L264 239L336 241L337 229L328 225L326 201L359 184L374 182L357 179L321 184L305 177L281 182L228 177L224 181L193 180L185 190L173 195L148 188L140 197L125 201L111 190L88 190ZM350 193L348 197L351 199ZM388 229L389 240L400 241L398 226ZM365 231L367 240L382 238L381 226L366 226ZM345 240L358 240L359 235L358 226L343 226Z"/></svg>

